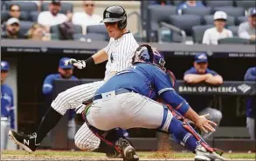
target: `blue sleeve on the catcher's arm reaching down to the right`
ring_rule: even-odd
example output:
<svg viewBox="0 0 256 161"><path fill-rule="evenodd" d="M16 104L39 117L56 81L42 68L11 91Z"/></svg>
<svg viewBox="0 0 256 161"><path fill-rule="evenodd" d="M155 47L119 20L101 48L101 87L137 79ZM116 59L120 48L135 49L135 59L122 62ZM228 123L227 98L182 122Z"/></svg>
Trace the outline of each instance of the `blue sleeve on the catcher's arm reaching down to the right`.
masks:
<svg viewBox="0 0 256 161"><path fill-rule="evenodd" d="M163 70L153 70L154 84L158 95L163 98L166 104L170 104L173 108L179 111L181 114L185 114L190 105L179 96L172 88L169 77L163 72Z"/></svg>

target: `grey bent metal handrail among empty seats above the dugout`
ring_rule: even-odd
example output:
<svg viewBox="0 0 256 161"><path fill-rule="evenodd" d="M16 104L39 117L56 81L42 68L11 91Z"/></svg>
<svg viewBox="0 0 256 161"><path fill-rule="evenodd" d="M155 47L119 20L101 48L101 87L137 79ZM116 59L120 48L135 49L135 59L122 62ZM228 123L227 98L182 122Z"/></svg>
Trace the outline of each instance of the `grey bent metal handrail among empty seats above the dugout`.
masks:
<svg viewBox="0 0 256 161"><path fill-rule="evenodd" d="M186 37L187 37L186 32L184 30L177 28L176 26L174 26L170 23L164 23L164 22L161 22L159 24L159 28L157 30L158 43L163 43L162 42L162 34L161 34L162 27L166 27L166 28L170 29L171 31L179 33L183 38L182 42L185 43Z"/></svg>

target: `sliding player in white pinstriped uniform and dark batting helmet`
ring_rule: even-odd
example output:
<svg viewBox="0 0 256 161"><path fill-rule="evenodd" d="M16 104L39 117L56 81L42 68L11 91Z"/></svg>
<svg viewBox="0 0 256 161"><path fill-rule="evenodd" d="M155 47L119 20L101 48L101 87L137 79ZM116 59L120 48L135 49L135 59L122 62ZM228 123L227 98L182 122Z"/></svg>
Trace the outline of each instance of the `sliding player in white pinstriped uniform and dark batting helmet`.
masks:
<svg viewBox="0 0 256 161"><path fill-rule="evenodd" d="M59 119L69 109L81 107L82 101L92 99L97 91L107 79L114 76L117 72L127 69L132 63L135 49L139 46L133 34L127 29L127 13L121 6L110 6L103 12L103 20L109 34L110 41L107 47L99 50L92 57L86 60L70 59L69 64L73 64L79 69L93 67L107 61L104 80L91 84L82 84L70 88L58 95L52 101L52 108L45 114L45 119L38 127L38 131L23 135L16 131L9 131L10 137L25 151L36 151L46 134L58 124ZM80 108L83 111L83 108ZM100 142L86 124L80 127L74 137L75 144L81 150L106 152L108 146ZM127 146L126 145L123 146ZM106 148L107 147L107 148ZM109 152L109 151L108 151Z"/></svg>

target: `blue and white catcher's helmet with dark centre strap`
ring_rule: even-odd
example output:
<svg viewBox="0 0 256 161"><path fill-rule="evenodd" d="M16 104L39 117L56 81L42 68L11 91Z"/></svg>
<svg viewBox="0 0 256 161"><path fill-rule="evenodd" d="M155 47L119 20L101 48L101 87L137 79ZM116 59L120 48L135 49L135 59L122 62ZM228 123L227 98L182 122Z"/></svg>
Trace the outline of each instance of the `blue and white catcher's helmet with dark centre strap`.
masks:
<svg viewBox="0 0 256 161"><path fill-rule="evenodd" d="M162 70L165 70L165 61L163 55L158 50L156 50L156 48L151 47L149 44L142 44L135 50L132 64L138 62L156 64Z"/></svg>

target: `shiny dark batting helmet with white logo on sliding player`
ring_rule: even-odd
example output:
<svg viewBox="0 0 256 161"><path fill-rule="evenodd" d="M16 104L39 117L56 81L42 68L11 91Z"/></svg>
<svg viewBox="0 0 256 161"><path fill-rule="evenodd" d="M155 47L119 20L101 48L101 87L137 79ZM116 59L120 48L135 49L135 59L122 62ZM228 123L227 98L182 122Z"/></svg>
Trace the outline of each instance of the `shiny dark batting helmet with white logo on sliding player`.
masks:
<svg viewBox="0 0 256 161"><path fill-rule="evenodd" d="M100 23L118 22L118 28L124 29L127 26L126 11L119 5L107 7L103 12L103 20Z"/></svg>

